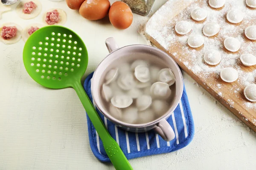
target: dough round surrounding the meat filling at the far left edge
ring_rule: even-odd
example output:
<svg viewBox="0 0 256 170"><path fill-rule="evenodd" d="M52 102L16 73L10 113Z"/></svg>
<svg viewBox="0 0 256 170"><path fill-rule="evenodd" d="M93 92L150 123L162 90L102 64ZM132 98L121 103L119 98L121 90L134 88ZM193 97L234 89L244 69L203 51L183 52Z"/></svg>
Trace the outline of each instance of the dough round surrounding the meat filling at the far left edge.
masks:
<svg viewBox="0 0 256 170"><path fill-rule="evenodd" d="M17 34L16 34L16 36L10 38L9 40L3 39L2 36L1 36L1 32L2 32L3 26L16 26L17 27ZM15 24L15 23L4 23L0 27L0 41L2 41L4 44L15 44L16 42L20 41L20 39L21 39L21 32L22 32L21 26Z"/></svg>

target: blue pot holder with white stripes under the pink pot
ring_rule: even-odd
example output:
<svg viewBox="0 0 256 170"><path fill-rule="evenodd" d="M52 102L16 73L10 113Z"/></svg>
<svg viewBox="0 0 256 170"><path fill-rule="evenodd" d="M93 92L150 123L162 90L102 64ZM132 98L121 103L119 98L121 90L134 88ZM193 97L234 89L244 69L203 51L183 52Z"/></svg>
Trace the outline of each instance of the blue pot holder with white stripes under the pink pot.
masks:
<svg viewBox="0 0 256 170"><path fill-rule="evenodd" d="M91 78L93 73L91 73L84 81L84 90L89 96L90 100L93 102L91 94ZM172 116L167 120L169 124L175 131L175 139L170 142L164 141L160 136L154 133L153 130L146 133L132 133L122 130L108 119L106 119L98 109L96 111L99 113L100 118L105 123L108 128L110 135L121 147L127 159L133 159L142 156L155 155L160 153L169 153L175 150L179 150L187 146L193 139L194 136L194 122L192 118L192 113L189 106L189 101L187 98L186 90L184 88L183 95L180 100L179 105L175 109ZM92 125L89 117L87 116L87 125L89 132L90 147L93 154L97 159L104 162L110 162L101 139L98 133Z"/></svg>

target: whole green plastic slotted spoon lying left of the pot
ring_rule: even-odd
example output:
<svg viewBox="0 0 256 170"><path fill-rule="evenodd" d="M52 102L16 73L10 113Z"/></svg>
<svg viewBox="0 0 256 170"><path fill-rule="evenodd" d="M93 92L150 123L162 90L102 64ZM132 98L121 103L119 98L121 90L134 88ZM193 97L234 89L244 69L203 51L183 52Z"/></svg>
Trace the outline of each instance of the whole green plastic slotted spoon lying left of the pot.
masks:
<svg viewBox="0 0 256 170"><path fill-rule="evenodd" d="M88 54L84 42L75 32L62 26L40 28L26 41L23 62L28 74L39 84L53 89L74 88L116 170L132 170L81 85Z"/></svg>

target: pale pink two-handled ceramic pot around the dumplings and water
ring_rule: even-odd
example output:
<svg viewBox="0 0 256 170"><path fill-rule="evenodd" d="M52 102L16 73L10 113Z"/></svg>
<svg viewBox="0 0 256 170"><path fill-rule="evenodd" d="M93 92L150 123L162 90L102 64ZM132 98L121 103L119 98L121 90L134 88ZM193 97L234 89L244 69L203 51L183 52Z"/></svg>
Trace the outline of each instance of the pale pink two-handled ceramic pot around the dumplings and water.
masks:
<svg viewBox="0 0 256 170"><path fill-rule="evenodd" d="M183 92L183 78L180 68L178 67L176 62L164 51L148 45L128 45L119 48L113 37L108 38L105 43L110 54L108 54L108 56L105 57L105 59L103 59L102 62L98 65L91 81L91 91L96 107L107 119L109 119L111 122L124 130L128 130L131 132L145 132L148 130L154 130L166 141L171 141L172 139L174 139L175 133L172 130L172 127L166 121L166 119L171 116L171 114L177 107ZM158 59L161 59L169 68L172 69L176 78L176 82L174 84L176 86L175 91L172 91L172 93L175 93L175 95L172 104L169 107L169 110L160 118L144 124L129 124L115 119L113 116L111 116L111 114L108 113L108 110L102 103L100 87L105 78L106 69L109 68L109 66L111 66L113 62L120 59L120 57L138 55L157 57Z"/></svg>

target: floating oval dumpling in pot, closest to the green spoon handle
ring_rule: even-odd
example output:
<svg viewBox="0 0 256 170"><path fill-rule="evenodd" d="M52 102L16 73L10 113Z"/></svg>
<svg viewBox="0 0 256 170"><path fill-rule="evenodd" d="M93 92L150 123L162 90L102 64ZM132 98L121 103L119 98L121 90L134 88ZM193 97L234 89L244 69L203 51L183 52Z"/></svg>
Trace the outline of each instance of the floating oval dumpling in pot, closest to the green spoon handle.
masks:
<svg viewBox="0 0 256 170"><path fill-rule="evenodd" d="M116 108L127 108L132 104L132 102L132 98L126 95L116 95L111 99L112 105Z"/></svg>

